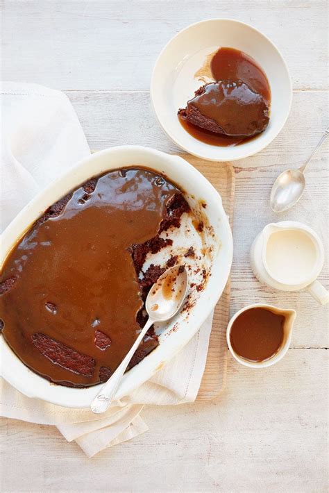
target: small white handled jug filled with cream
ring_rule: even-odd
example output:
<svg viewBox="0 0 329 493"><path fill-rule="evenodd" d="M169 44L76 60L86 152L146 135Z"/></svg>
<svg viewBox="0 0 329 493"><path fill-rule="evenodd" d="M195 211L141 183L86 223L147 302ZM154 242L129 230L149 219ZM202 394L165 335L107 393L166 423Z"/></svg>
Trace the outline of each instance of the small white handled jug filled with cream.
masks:
<svg viewBox="0 0 329 493"><path fill-rule="evenodd" d="M260 283L279 291L307 289L325 305L329 292L317 277L323 267L323 244L309 226L296 221L267 224L251 246L251 267Z"/></svg>

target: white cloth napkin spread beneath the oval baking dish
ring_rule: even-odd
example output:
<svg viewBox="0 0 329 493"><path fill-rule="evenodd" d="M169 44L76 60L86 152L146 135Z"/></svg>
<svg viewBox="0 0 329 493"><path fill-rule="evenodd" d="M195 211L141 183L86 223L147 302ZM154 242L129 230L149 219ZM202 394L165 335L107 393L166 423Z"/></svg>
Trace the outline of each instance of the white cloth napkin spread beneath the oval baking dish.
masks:
<svg viewBox="0 0 329 493"><path fill-rule="evenodd" d="M1 231L42 187L90 153L69 99L35 84L2 83ZM212 326L212 316L164 369L103 415L89 409L62 408L30 399L0 378L0 414L57 426L88 457L130 440L148 428L140 412L145 404L170 405L196 399ZM179 375L179 378L178 378Z"/></svg>

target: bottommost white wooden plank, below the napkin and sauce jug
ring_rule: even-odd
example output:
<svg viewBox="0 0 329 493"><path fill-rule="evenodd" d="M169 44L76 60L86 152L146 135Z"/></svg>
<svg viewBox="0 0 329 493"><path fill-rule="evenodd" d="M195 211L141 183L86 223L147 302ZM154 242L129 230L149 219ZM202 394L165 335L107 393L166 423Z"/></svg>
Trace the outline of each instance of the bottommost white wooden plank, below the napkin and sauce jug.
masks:
<svg viewBox="0 0 329 493"><path fill-rule="evenodd" d="M2 491L324 493L327 362L320 349L262 371L229 358L219 401L148 408L147 433L92 460L56 428L3 419Z"/></svg>

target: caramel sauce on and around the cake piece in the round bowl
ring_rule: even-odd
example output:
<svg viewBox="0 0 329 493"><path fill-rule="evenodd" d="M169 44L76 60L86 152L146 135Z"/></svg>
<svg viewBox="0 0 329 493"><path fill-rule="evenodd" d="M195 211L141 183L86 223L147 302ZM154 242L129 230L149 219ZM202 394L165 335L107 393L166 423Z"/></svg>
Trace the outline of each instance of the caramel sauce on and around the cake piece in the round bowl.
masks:
<svg viewBox="0 0 329 493"><path fill-rule="evenodd" d="M246 53L226 47L208 57L206 63L208 67L204 67L203 72L210 73L214 81L225 81L233 87L225 90L210 83L205 86L207 94L194 98L193 105L219 126L226 122L228 135L201 128L178 113L180 124L194 138L221 147L237 145L257 137L258 134L253 135L252 131L244 135L246 125L239 127L237 123L257 121L260 100L263 99L268 106L271 102L269 81L262 68ZM234 131L228 124L235 127ZM242 131L242 135L238 135L238 131Z"/></svg>

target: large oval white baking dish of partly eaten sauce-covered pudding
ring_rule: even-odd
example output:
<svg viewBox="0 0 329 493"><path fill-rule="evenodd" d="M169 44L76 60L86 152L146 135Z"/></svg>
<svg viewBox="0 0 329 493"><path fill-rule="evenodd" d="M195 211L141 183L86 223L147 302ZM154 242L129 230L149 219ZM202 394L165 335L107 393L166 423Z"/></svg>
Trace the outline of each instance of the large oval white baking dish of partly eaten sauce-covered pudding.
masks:
<svg viewBox="0 0 329 493"><path fill-rule="evenodd" d="M232 253L219 194L185 160L135 146L95 153L3 233L3 378L28 396L87 407L144 325L151 285L184 263L188 299L147 333L118 390L128 394L198 330Z"/></svg>

